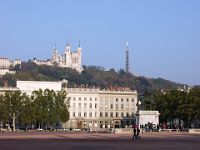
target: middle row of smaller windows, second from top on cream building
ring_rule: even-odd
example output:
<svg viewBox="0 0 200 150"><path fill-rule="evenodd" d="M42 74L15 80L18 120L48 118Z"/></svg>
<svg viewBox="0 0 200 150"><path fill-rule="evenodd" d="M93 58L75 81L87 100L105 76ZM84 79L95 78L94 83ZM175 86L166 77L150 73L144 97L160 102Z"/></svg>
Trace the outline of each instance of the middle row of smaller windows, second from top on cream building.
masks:
<svg viewBox="0 0 200 150"><path fill-rule="evenodd" d="M105 106L105 109L114 109L114 104L110 104L110 105L106 104L106 105L104 105L104 106ZM125 104L119 105L119 104L115 104L115 109L125 109L125 106L126 106L126 109L129 109L129 108L130 108L130 105L125 105ZM92 103L89 103L89 108L92 109L93 107L94 107L95 109L97 109L97 108L98 108L98 104L95 103L94 106L92 106ZM76 108L76 103L73 103L73 108ZM78 103L78 108L79 108L79 109L82 108L82 103ZM84 104L83 104L83 108L88 108L87 103L84 103ZM101 108L101 109L103 108L103 104L100 104L100 108ZM131 108L133 108L133 106L132 106Z"/></svg>

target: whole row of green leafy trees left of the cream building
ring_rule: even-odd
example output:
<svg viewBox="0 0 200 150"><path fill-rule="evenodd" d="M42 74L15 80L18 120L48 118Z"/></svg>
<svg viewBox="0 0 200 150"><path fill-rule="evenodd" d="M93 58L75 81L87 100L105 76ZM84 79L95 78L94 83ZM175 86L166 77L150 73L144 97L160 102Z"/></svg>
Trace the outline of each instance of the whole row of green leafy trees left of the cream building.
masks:
<svg viewBox="0 0 200 150"><path fill-rule="evenodd" d="M32 125L53 129L58 123L69 120L68 99L65 91L41 89L28 96L20 91L6 91L0 96L1 127L16 123L26 129ZM19 125L20 124L20 125Z"/></svg>

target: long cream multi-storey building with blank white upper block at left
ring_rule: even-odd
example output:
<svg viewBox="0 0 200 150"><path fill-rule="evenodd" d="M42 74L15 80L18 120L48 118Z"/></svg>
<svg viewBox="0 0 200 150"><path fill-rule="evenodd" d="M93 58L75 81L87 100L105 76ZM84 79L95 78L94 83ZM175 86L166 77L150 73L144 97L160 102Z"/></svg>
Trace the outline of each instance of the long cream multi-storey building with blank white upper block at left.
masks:
<svg viewBox="0 0 200 150"><path fill-rule="evenodd" d="M60 91L61 82L17 81L17 88L31 95L34 90ZM69 121L64 128L90 130L132 127L137 110L137 91L100 90L90 88L64 88L69 100Z"/></svg>

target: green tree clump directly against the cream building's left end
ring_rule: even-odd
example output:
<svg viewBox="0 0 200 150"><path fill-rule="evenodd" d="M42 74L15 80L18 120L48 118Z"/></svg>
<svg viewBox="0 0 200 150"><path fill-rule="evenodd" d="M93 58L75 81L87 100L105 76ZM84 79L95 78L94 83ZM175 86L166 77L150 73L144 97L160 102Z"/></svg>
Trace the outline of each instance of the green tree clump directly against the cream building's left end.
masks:
<svg viewBox="0 0 200 150"><path fill-rule="evenodd" d="M55 92L45 89L33 92L33 101L35 103L35 118L40 124L55 126L57 122L66 122L69 120L68 100L65 91Z"/></svg>

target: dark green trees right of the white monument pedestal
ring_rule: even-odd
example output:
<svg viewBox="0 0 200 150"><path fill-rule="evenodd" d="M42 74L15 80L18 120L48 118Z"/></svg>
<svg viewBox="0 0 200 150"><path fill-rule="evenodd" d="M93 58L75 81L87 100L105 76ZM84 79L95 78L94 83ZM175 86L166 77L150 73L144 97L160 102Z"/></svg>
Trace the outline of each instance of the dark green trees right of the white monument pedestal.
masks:
<svg viewBox="0 0 200 150"><path fill-rule="evenodd" d="M191 123L200 119L200 88L189 91L171 89L148 93L148 98L142 99L142 109L158 110L160 121L169 122L173 127L178 120L178 126L191 127ZM182 123L181 123L182 122Z"/></svg>

